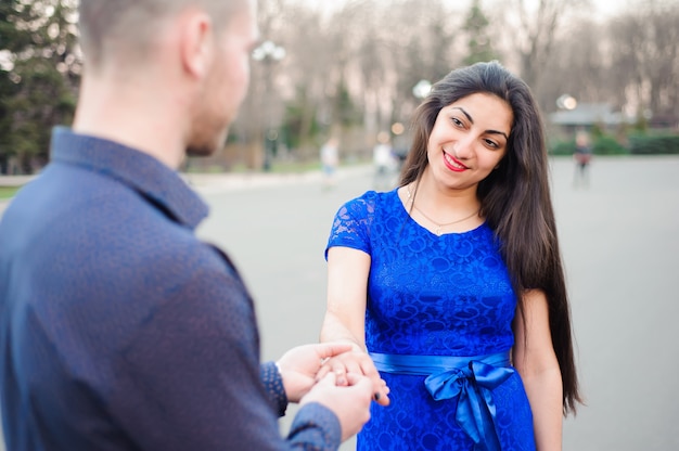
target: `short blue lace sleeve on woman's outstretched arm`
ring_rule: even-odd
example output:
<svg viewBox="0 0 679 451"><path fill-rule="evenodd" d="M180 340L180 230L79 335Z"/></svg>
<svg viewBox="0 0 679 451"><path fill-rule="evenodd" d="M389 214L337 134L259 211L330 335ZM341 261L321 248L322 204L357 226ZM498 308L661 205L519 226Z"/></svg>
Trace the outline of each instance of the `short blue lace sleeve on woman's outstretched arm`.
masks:
<svg viewBox="0 0 679 451"><path fill-rule="evenodd" d="M374 195L371 193L344 204L333 220L328 246L325 246L325 259L328 259L328 249L333 246L351 247L370 254L370 226L374 210Z"/></svg>

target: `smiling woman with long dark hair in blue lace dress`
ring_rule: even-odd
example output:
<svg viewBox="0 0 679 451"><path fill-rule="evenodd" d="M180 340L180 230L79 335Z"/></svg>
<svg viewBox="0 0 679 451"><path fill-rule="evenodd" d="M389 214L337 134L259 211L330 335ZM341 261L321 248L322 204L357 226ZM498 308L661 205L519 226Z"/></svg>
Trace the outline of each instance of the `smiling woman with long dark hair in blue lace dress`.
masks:
<svg viewBox="0 0 679 451"><path fill-rule="evenodd" d="M559 450L580 399L530 90L457 69L413 126L399 188L346 203L326 248L321 340L355 350L325 371L372 376L383 404L358 449Z"/></svg>

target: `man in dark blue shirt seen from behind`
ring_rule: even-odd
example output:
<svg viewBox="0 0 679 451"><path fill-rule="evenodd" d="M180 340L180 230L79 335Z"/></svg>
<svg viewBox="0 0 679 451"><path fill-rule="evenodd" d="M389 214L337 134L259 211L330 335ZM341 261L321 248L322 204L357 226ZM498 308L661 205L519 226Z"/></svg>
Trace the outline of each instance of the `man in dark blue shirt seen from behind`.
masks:
<svg viewBox="0 0 679 451"><path fill-rule="evenodd" d="M254 1L79 8L73 128L54 130L50 165L0 222L8 450L336 449L384 394L379 376L317 383L340 344L259 363L252 300L196 239L207 208L177 173L185 152L225 142L248 85ZM302 407L283 439L289 401Z"/></svg>

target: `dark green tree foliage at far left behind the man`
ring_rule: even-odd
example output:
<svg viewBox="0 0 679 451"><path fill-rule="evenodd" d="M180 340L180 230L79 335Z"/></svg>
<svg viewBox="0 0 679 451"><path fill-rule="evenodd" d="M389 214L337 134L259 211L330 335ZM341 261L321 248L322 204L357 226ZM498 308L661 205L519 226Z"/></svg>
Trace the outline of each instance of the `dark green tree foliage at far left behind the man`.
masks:
<svg viewBox="0 0 679 451"><path fill-rule="evenodd" d="M75 9L68 0L0 4L0 172L13 157L25 173L44 164L52 128L73 119L80 70Z"/></svg>

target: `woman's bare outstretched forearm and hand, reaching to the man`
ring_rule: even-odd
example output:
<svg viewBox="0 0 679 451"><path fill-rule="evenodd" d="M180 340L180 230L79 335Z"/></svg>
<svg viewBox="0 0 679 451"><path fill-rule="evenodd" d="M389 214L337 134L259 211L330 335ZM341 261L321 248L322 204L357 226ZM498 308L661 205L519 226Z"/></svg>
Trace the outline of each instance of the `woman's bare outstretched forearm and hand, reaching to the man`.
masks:
<svg viewBox="0 0 679 451"><path fill-rule="evenodd" d="M328 307L321 327L321 342L349 343L354 348L328 361L318 373L337 375L337 384L346 383L345 373L364 374L373 382L375 400L388 404L388 388L366 351L366 306L370 256L349 247L328 250Z"/></svg>

